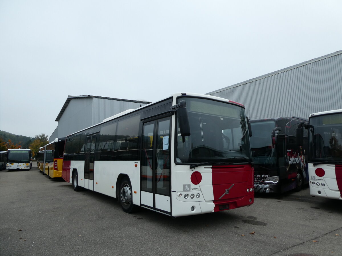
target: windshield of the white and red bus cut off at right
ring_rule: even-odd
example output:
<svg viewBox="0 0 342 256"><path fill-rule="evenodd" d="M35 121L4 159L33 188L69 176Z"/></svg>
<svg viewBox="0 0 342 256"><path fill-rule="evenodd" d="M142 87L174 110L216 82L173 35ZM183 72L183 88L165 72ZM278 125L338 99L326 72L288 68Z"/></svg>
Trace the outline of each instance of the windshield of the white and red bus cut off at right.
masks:
<svg viewBox="0 0 342 256"><path fill-rule="evenodd" d="M342 113L311 117L309 145L309 161L342 162Z"/></svg>

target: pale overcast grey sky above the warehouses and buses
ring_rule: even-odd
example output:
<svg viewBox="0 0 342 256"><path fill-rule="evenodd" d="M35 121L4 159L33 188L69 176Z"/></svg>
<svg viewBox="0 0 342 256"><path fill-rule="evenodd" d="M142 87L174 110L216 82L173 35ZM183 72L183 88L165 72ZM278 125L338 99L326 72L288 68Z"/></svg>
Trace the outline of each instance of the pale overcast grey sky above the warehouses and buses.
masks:
<svg viewBox="0 0 342 256"><path fill-rule="evenodd" d="M341 10L340 0L1 0L0 130L50 136L68 95L205 94L339 51Z"/></svg>

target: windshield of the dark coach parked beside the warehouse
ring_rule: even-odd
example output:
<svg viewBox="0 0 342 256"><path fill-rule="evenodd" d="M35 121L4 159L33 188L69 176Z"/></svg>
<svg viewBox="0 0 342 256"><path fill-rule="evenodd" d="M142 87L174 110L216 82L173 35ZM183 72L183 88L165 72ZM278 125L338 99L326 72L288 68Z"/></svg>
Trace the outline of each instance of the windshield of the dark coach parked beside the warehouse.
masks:
<svg viewBox="0 0 342 256"><path fill-rule="evenodd" d="M253 162L268 167L275 166L276 156L272 146L272 130L276 127L273 120L251 122L253 136L250 138Z"/></svg>

